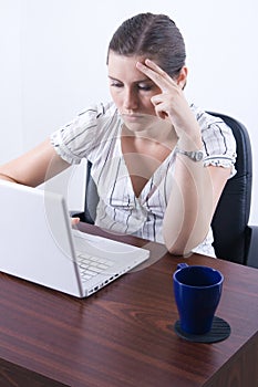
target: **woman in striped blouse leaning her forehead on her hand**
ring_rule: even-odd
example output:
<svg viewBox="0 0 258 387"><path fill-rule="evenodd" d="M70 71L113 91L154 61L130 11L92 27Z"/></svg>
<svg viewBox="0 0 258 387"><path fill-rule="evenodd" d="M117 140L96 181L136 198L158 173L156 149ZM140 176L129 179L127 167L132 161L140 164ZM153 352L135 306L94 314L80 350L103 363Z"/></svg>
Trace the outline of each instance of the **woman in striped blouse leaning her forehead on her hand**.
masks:
<svg viewBox="0 0 258 387"><path fill-rule="evenodd" d="M214 255L210 222L235 174L236 145L221 119L187 103L185 57L168 17L126 20L107 52L113 101L90 106L2 166L1 177L38 186L87 158L100 195L97 226L165 242L173 254Z"/></svg>

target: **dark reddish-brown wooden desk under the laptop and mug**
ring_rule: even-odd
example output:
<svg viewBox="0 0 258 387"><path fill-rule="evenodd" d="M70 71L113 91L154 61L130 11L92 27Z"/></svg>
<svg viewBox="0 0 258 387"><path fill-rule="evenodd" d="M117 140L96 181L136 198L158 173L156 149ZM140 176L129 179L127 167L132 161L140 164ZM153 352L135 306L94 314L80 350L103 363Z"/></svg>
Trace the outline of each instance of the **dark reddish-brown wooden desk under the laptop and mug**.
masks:
<svg viewBox="0 0 258 387"><path fill-rule="evenodd" d="M0 386L258 386L258 271L188 258L224 273L216 314L231 326L224 342L189 343L173 330L172 273L185 260L147 248L164 257L83 300L0 274Z"/></svg>

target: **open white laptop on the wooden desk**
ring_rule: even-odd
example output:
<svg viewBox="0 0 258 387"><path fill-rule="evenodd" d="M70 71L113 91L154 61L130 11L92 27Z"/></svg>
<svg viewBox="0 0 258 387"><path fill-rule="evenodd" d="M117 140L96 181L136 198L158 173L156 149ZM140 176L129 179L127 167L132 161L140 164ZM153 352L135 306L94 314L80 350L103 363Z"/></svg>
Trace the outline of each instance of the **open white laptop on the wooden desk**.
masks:
<svg viewBox="0 0 258 387"><path fill-rule="evenodd" d="M63 196L0 180L0 270L85 297L149 251L74 230Z"/></svg>

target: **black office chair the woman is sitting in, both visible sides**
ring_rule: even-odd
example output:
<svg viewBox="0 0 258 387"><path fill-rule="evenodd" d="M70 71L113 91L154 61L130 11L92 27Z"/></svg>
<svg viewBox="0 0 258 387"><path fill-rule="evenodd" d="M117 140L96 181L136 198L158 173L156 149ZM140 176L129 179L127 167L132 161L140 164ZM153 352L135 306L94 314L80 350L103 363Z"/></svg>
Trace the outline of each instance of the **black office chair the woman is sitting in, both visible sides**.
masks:
<svg viewBox="0 0 258 387"><path fill-rule="evenodd" d="M219 199L211 228L214 248L220 259L258 268L258 227L248 226L251 199L251 146L246 127L225 114L208 112L220 117L231 128L237 142L237 174L230 178ZM76 213L81 221L94 223L99 196L87 163L84 212Z"/></svg>

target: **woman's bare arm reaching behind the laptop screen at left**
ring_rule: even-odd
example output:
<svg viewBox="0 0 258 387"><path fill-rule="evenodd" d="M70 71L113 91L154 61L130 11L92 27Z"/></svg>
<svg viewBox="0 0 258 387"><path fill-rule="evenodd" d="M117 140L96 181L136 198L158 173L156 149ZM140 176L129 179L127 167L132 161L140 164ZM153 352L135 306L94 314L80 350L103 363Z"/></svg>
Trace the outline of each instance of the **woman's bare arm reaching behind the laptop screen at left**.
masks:
<svg viewBox="0 0 258 387"><path fill-rule="evenodd" d="M24 155L0 166L0 178L37 187L70 165L55 153L47 139Z"/></svg>

